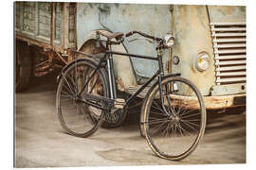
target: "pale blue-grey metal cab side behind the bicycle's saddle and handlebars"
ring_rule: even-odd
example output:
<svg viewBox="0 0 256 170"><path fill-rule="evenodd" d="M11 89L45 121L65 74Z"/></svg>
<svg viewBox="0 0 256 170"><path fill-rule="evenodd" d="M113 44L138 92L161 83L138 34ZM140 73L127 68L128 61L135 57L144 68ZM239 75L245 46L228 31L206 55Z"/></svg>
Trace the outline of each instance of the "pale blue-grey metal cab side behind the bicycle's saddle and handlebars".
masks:
<svg viewBox="0 0 256 170"><path fill-rule="evenodd" d="M109 29L124 33L141 30L163 37L171 31L172 17L169 7L169 5L78 3L78 48L82 46L87 35L95 29ZM154 44L145 41L124 42L124 44L130 53L156 56ZM167 50L163 57L164 64L168 59ZM157 62L153 60L132 59L132 62L137 76L153 76L158 68Z"/></svg>

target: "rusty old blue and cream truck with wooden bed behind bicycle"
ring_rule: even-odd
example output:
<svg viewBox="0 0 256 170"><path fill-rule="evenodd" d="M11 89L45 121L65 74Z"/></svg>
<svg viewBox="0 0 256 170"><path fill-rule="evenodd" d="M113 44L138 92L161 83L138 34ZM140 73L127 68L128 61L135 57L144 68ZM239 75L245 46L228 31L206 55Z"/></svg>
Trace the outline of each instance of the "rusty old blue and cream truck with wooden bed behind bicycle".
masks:
<svg viewBox="0 0 256 170"><path fill-rule="evenodd" d="M163 57L165 72L192 80L207 109L246 104L246 7L66 2L14 6L17 91L27 88L31 75L44 76L72 61L73 50L99 53L96 30L143 30L156 37L174 34L174 47ZM114 48L155 53L144 41L125 41ZM114 63L118 89L124 93L133 93L157 69L151 60L114 56Z"/></svg>

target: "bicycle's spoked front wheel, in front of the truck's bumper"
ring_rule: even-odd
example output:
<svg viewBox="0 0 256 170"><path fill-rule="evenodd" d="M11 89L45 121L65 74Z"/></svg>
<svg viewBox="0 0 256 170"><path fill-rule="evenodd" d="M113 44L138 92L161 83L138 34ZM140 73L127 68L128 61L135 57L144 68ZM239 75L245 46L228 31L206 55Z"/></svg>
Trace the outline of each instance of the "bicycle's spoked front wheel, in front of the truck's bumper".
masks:
<svg viewBox="0 0 256 170"><path fill-rule="evenodd" d="M191 81L168 76L161 86L155 85L148 95L143 129L157 156L177 161L188 157L202 139L206 109L202 95Z"/></svg>

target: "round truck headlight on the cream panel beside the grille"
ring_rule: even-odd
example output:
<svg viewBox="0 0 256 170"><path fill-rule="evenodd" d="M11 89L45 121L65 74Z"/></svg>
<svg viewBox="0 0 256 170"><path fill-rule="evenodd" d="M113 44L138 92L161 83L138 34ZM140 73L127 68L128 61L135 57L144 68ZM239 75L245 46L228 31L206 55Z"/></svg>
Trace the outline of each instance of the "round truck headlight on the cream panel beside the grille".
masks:
<svg viewBox="0 0 256 170"><path fill-rule="evenodd" d="M199 72L206 71L210 66L210 56L208 53L200 53L198 58L194 60L194 67Z"/></svg>

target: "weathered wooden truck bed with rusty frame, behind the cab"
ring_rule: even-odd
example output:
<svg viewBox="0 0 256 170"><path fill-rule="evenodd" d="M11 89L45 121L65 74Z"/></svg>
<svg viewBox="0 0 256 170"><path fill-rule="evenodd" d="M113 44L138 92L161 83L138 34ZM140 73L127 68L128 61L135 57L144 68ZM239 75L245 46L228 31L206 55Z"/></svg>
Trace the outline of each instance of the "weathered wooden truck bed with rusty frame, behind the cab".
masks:
<svg viewBox="0 0 256 170"><path fill-rule="evenodd" d="M15 2L15 37L65 53L76 47L76 3Z"/></svg>

